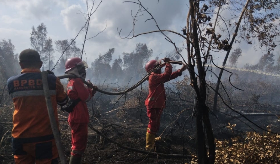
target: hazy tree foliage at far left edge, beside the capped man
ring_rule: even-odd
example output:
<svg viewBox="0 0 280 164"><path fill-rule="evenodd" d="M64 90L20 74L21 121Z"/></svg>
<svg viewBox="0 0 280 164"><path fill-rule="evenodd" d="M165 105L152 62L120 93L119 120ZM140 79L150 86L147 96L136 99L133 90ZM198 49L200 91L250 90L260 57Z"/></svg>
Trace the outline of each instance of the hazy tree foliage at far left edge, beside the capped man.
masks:
<svg viewBox="0 0 280 164"><path fill-rule="evenodd" d="M0 77L2 82L6 82L9 77L20 73L18 54L15 54L14 51L15 47L11 39L0 41Z"/></svg>

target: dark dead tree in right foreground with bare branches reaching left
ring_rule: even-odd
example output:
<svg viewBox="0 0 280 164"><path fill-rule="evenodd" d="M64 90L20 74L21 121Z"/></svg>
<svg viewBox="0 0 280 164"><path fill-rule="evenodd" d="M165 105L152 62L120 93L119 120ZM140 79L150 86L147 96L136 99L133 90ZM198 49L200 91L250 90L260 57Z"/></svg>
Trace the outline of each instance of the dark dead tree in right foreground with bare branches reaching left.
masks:
<svg viewBox="0 0 280 164"><path fill-rule="evenodd" d="M128 36L124 37L127 39L132 39L134 37L137 37L139 35L144 35L152 32L161 32L165 39L174 45L176 51L178 54L180 54L180 51L178 51L178 48L176 44L167 36L164 32L171 32L174 34L177 34L179 36L182 36L184 39L186 39L187 42L187 62L184 60L185 55L183 56L180 54L180 56L183 58L184 62L189 66L189 74L190 74L190 83L192 87L195 90L196 93L196 104L195 104L195 117L196 117L196 148L197 148L197 158L199 164L214 164L215 160L215 143L214 143L214 136L213 131L211 127L211 122L209 119L209 108L205 104L205 101L207 99L207 92L206 92L206 81L205 81L205 61L207 57L205 56L205 53L201 54L201 43L200 43L200 36L201 34L198 33L199 31L199 23L198 21L201 21L201 14L199 10L199 1L190 0L190 10L187 18L187 25L186 28L183 29L183 35L174 32L171 30L165 30L161 29L152 14L141 4L140 1L138 2L131 2L136 3L140 6L137 14L139 14L142 10L146 11L151 18L149 20L154 20L156 23L156 26L158 30L151 31L151 32L145 32L141 34L135 34L134 33L134 27L136 23L136 17L139 15L133 16L133 29L128 34ZM119 30L119 34L121 33L121 30ZM132 34L132 36L131 36ZM121 36L121 35L120 35ZM196 62L195 62L196 60ZM198 70L198 73L195 72L195 64L196 68ZM198 77L198 79L197 79ZM205 144L205 132L207 134L207 141L208 141L208 147L209 151L207 150L207 146ZM207 152L209 152L209 156L207 155Z"/></svg>

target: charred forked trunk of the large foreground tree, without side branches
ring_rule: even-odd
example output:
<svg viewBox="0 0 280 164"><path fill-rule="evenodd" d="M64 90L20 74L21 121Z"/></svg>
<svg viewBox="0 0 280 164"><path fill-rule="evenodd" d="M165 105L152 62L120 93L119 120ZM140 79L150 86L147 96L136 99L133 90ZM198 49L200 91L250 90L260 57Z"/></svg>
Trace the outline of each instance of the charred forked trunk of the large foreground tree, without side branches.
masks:
<svg viewBox="0 0 280 164"><path fill-rule="evenodd" d="M196 13L199 10L199 0L189 0L190 9L189 9L189 16L188 21L190 24L187 24L188 32L187 37L192 39L192 45L187 41L188 45L188 64L189 64L189 74L191 79L191 85L195 89L196 92L196 151L197 151L197 158L198 164L214 164L215 159L215 143L213 137L213 131L208 115L208 107L205 104L206 101L206 82L205 82L205 67L203 66L202 57L199 48L199 38L197 32L197 20L196 20ZM189 48L192 46L192 49ZM198 70L198 78L197 81L194 66L196 59L197 70ZM198 85L199 83L199 85ZM209 157L207 156L207 147L205 145L205 134L204 128L206 130L206 134L208 137L208 146L209 146Z"/></svg>

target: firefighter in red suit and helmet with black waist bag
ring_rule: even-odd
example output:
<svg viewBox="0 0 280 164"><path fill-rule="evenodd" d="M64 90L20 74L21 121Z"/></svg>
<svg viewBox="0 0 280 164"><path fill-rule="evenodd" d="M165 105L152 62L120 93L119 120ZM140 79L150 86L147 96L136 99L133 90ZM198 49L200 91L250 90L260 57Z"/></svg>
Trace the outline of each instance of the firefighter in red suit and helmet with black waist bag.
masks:
<svg viewBox="0 0 280 164"><path fill-rule="evenodd" d="M68 122L71 127L72 147L69 164L79 164L87 146L89 114L86 102L96 93L97 87L91 82L84 85L83 80L86 76L85 61L79 57L69 58L65 62L65 74L75 75L77 78L68 79L67 94L71 100L80 101L69 113Z"/></svg>

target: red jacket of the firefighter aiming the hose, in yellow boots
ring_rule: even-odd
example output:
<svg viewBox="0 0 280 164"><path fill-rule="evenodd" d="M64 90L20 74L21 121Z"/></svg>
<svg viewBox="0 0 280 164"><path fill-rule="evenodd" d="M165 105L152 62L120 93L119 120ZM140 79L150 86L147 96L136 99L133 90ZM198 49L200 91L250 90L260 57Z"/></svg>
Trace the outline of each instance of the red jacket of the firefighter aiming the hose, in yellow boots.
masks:
<svg viewBox="0 0 280 164"><path fill-rule="evenodd" d="M172 66L169 63L166 63L164 73L151 73L149 76L149 95L145 101L146 108L165 108L166 95L163 83L181 75L180 69L172 72Z"/></svg>

